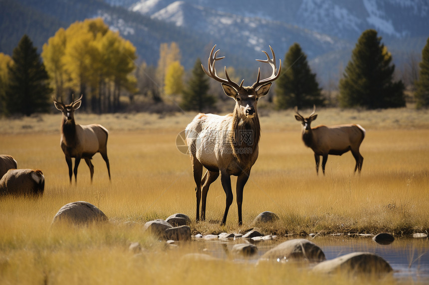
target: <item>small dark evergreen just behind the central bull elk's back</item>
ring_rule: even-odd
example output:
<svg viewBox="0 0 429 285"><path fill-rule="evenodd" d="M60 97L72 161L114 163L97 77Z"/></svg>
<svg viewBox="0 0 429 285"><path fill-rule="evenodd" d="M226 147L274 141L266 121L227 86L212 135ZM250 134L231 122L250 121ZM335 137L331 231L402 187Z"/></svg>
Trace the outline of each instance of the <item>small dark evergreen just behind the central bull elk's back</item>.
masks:
<svg viewBox="0 0 429 285"><path fill-rule="evenodd" d="M188 81L188 86L183 91L182 103L180 106L184 110L197 110L213 108L215 98L209 95L209 77L201 67L201 60L197 59L192 69L192 77Z"/></svg>

